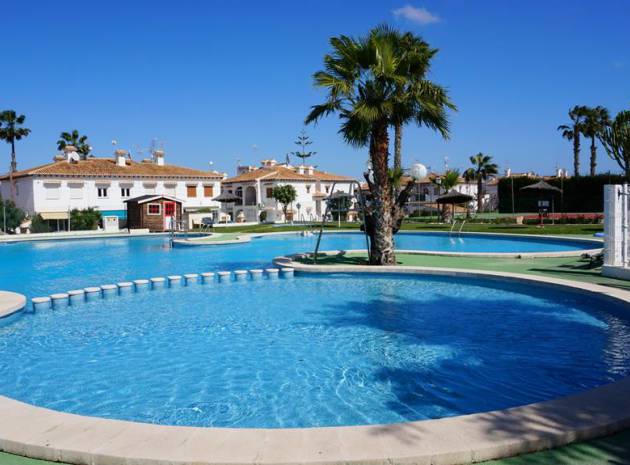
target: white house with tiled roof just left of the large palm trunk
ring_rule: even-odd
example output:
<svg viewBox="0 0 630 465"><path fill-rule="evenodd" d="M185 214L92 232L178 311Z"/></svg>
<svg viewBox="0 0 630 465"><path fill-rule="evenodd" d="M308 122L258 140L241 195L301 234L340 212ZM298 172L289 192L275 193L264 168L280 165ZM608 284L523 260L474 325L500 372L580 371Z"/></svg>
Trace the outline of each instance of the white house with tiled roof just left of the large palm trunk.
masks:
<svg viewBox="0 0 630 465"><path fill-rule="evenodd" d="M239 166L237 175L221 183L223 196L235 202L223 203L223 211L232 221L284 221L282 206L272 197L273 188L292 185L297 198L289 207L286 220L320 220L326 211L326 198L333 192L352 194L353 179L318 171L313 166L291 166L275 160L263 160L260 167Z"/></svg>

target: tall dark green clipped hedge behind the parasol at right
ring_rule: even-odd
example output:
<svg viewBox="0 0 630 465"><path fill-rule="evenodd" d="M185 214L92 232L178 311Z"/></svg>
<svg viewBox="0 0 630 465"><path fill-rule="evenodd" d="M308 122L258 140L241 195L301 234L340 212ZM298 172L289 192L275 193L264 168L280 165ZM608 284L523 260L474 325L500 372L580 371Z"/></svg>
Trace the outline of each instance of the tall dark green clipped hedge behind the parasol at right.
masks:
<svg viewBox="0 0 630 465"><path fill-rule="evenodd" d="M512 212L512 182L514 182L514 210L517 213L537 212L539 192L522 191L521 188L537 182L540 178L527 176L501 178L499 180L499 212ZM560 193L545 193L544 199L554 197L556 213L602 212L604 211L604 186L606 184L623 184L624 177L616 174L599 174L597 176L578 176L546 180L552 186L562 188Z"/></svg>

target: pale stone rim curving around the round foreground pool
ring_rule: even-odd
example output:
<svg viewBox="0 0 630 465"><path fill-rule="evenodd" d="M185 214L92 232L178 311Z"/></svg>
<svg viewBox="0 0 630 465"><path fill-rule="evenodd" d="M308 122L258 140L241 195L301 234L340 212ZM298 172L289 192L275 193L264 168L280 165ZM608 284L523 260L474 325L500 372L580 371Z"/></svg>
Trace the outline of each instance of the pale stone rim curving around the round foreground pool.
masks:
<svg viewBox="0 0 630 465"><path fill-rule="evenodd" d="M429 267L313 266L298 272L438 274L508 279L595 293L630 304L630 292L516 273ZM296 429L199 428L86 417L0 396L0 450L76 464L474 463L557 447L630 427L630 377L521 407L388 425Z"/></svg>

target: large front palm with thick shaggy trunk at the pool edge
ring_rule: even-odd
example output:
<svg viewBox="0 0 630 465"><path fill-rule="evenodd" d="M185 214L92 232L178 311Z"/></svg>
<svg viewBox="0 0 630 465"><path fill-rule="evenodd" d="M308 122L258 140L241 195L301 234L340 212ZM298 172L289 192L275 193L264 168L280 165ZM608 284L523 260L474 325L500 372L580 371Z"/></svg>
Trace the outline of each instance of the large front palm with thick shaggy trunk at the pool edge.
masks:
<svg viewBox="0 0 630 465"><path fill-rule="evenodd" d="M409 89L407 108L412 121L422 121L427 94L408 79L387 28L373 29L359 39L333 37L330 43L333 50L324 57L325 69L314 74L315 85L326 88L328 95L324 103L311 108L306 123L337 113L344 140L355 147L369 147L371 168L365 177L371 203L364 226L371 238L370 263L393 265L393 235L413 183L395 196L389 170L388 128L399 119L401 85ZM440 121L439 129L448 132L446 118Z"/></svg>

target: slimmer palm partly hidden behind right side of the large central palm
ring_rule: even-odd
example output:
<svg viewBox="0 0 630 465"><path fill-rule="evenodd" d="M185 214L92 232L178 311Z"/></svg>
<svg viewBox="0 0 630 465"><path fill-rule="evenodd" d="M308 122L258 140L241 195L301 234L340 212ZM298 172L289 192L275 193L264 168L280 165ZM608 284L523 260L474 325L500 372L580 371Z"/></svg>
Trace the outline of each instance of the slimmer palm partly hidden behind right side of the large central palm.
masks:
<svg viewBox="0 0 630 465"><path fill-rule="evenodd" d="M456 110L443 87L426 79L431 59L438 50L431 48L421 37L410 32L401 34L395 29L381 26L389 35L400 59L399 72L405 81L396 86L396 108L394 111L394 170L402 170L402 135L405 124L414 121L418 126L427 126L440 132L448 139L446 109Z"/></svg>

